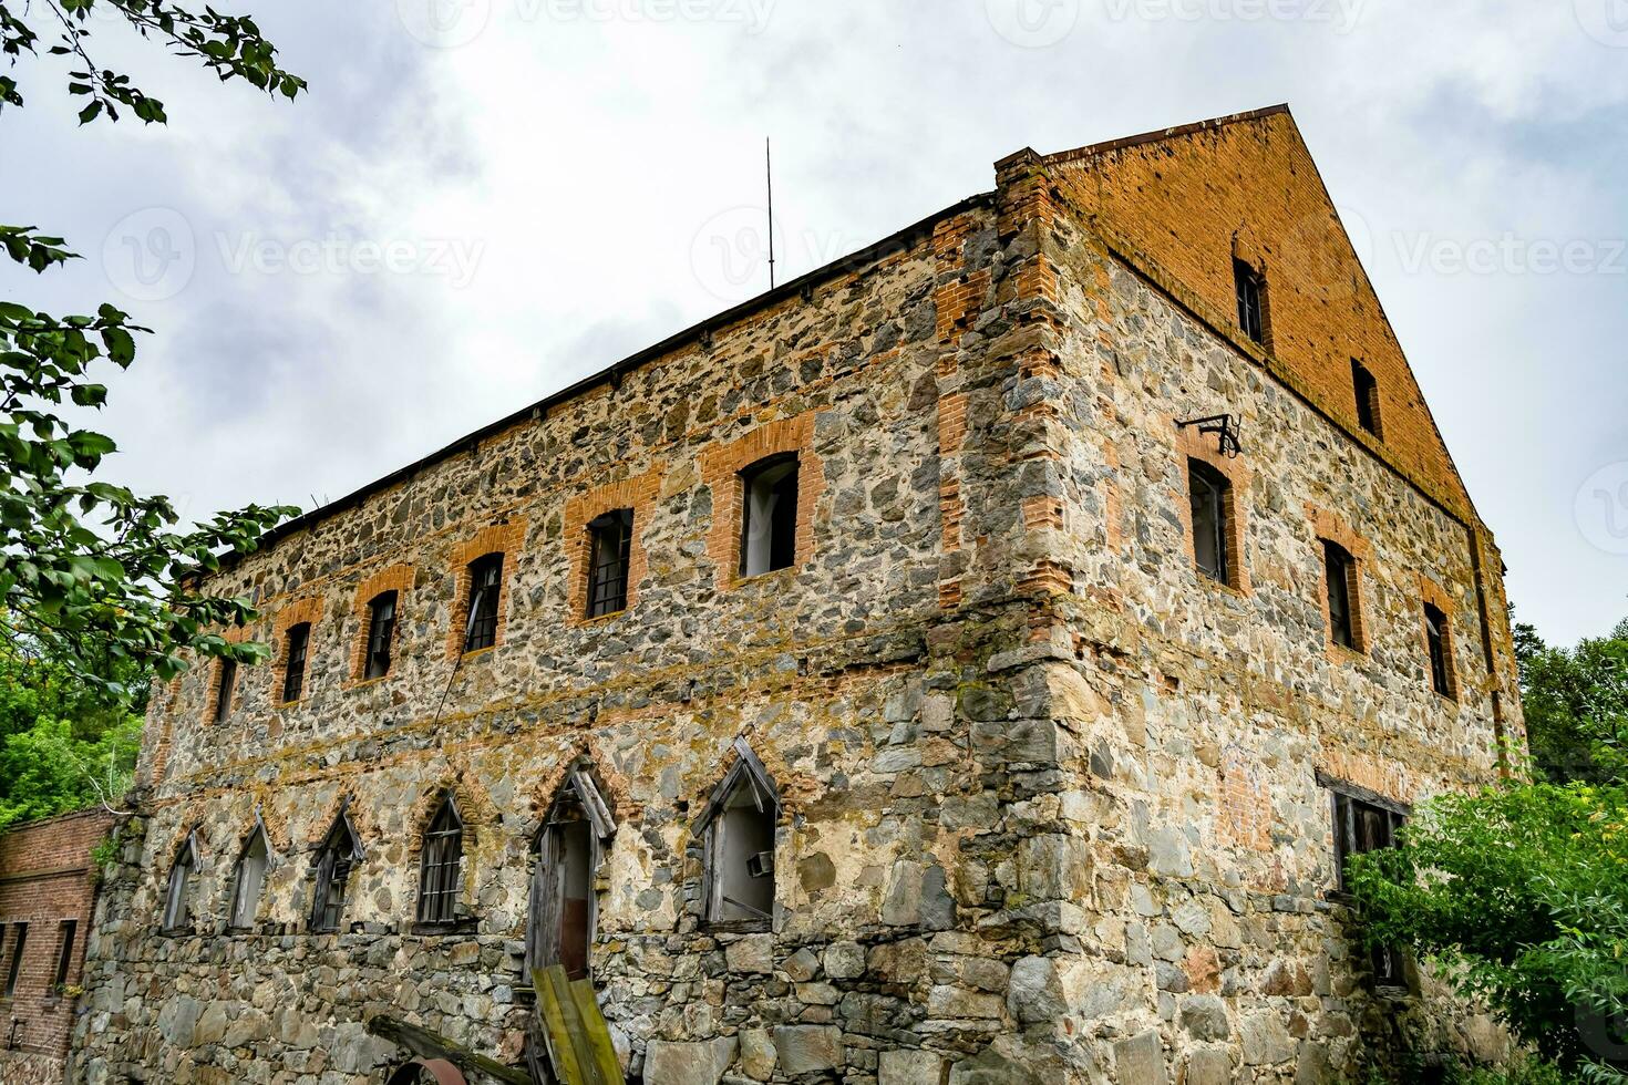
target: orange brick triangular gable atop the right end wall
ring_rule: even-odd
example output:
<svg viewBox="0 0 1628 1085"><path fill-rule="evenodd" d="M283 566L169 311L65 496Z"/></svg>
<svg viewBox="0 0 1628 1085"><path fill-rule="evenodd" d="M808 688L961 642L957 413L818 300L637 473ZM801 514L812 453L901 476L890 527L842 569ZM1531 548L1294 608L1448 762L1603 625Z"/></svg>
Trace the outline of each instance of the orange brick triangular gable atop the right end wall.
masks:
<svg viewBox="0 0 1628 1085"><path fill-rule="evenodd" d="M1402 345L1286 109L1065 151L1047 163L1099 229L1146 254L1229 327L1237 324L1232 255L1263 270L1271 355L1353 439L1385 449L1457 512L1472 514ZM1379 382L1382 442L1356 423L1353 358Z"/></svg>

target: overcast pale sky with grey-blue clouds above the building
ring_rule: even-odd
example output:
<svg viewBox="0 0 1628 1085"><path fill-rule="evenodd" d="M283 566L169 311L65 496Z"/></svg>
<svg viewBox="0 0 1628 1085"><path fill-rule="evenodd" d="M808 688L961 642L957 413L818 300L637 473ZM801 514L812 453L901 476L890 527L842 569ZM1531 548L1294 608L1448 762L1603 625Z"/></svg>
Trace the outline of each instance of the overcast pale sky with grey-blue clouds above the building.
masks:
<svg viewBox="0 0 1628 1085"><path fill-rule="evenodd" d="M1628 615L1628 0L293 0L270 101L98 23L168 127L0 114L0 296L158 335L109 477L309 508L993 187L1288 101L1550 639Z"/></svg>

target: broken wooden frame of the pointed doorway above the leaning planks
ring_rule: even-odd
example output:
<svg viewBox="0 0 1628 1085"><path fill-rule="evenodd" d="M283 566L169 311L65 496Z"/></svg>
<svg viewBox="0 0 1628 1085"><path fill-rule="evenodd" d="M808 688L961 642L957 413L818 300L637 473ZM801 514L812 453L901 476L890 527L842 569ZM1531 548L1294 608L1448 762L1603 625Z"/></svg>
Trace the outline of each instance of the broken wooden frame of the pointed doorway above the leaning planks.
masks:
<svg viewBox="0 0 1628 1085"><path fill-rule="evenodd" d="M581 818L565 817L571 808L581 812ZM610 804L594 781L593 763L578 761L567 773L549 804L549 813L532 836L531 890L526 901L526 976L534 970L563 963L562 958L562 909L565 895L563 867L563 825L565 821L588 823L588 914L586 914L586 952L584 973L593 976L594 930L599 919L599 893L594 882L599 865L610 851L617 823Z"/></svg>

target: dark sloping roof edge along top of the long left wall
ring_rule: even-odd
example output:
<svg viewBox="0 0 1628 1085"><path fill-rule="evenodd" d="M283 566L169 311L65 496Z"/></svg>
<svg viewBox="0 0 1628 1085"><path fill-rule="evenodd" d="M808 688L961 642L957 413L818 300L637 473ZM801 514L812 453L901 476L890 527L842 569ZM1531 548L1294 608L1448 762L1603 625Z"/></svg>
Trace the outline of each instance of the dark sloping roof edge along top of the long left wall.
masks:
<svg viewBox="0 0 1628 1085"><path fill-rule="evenodd" d="M936 228L938 223L941 223L943 220L951 218L954 215L961 215L962 211L972 210L975 207L988 205L991 203L993 198L995 198L993 192L978 192L975 195L969 195L964 200L957 200L956 203L951 203L949 207L938 210L933 215L928 215L926 218L882 237L881 241L871 242L863 249L856 249L855 252L850 252L845 257L838 257L830 264L824 264L814 268L812 272L806 272L780 286L775 286L773 290L767 290L757 294L755 298L749 298L747 301L742 301L737 306L731 306L723 312L716 312L697 324L692 324L690 327L681 332L669 335L659 343L651 343L650 346L637 350L632 355L622 358L620 361L614 361L604 369L589 374L581 381L568 384L558 392L550 392L540 400L531 403L529 407L523 407L510 415L505 415L503 418L498 418L497 421L480 426L472 433L466 433L464 436L457 438L456 441L451 441L449 444L436 449L435 452L430 452L428 455L414 460L407 467L399 467L392 470L389 475L374 478L373 481L358 486L357 490L352 490L342 498L329 501L327 504L319 504L317 508L308 512L301 512L293 519L283 521L277 527L260 535L256 548L262 550L287 538L288 535L293 535L295 532L308 530L316 524L321 524L322 521L329 519L330 516L335 516L348 508L361 504L371 495L379 493L381 490L387 490L389 486L394 486L397 483L407 481L414 475L418 475L420 472L440 464L441 460L451 459L457 452L467 451L472 446L480 444L492 434L510 429L511 426L516 426L529 418L542 420L549 415L549 408L573 400L591 389L596 389L602 384L610 384L612 387L620 386L622 377L625 377L633 369L638 369L645 363L654 361L656 358L661 358L664 355L671 355L681 346L687 346L689 343L702 338L708 332L723 329L729 324L734 324L736 320L741 320L742 317L752 316L754 312L778 304L829 278L851 272L858 265L871 264L873 260L887 255L887 252L897 249L900 244L910 246L920 241L921 237L930 237L933 228ZM221 568L236 564L244 556L247 555L246 553L226 555L221 560Z"/></svg>

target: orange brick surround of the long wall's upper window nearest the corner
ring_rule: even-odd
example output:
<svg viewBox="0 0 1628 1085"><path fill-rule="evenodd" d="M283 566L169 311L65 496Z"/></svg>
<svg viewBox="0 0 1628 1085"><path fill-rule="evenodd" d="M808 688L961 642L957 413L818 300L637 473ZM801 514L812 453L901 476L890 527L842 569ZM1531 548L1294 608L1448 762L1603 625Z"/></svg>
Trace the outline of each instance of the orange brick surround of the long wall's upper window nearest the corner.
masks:
<svg viewBox="0 0 1628 1085"><path fill-rule="evenodd" d="M798 457L796 547L791 563L801 569L814 556L814 506L825 491L825 470L814 452L817 412L777 418L751 433L702 449L702 485L711 490L713 522L707 532L707 555L718 569L718 586L729 587L741 577L741 514L746 503L741 472L770 455Z"/></svg>

